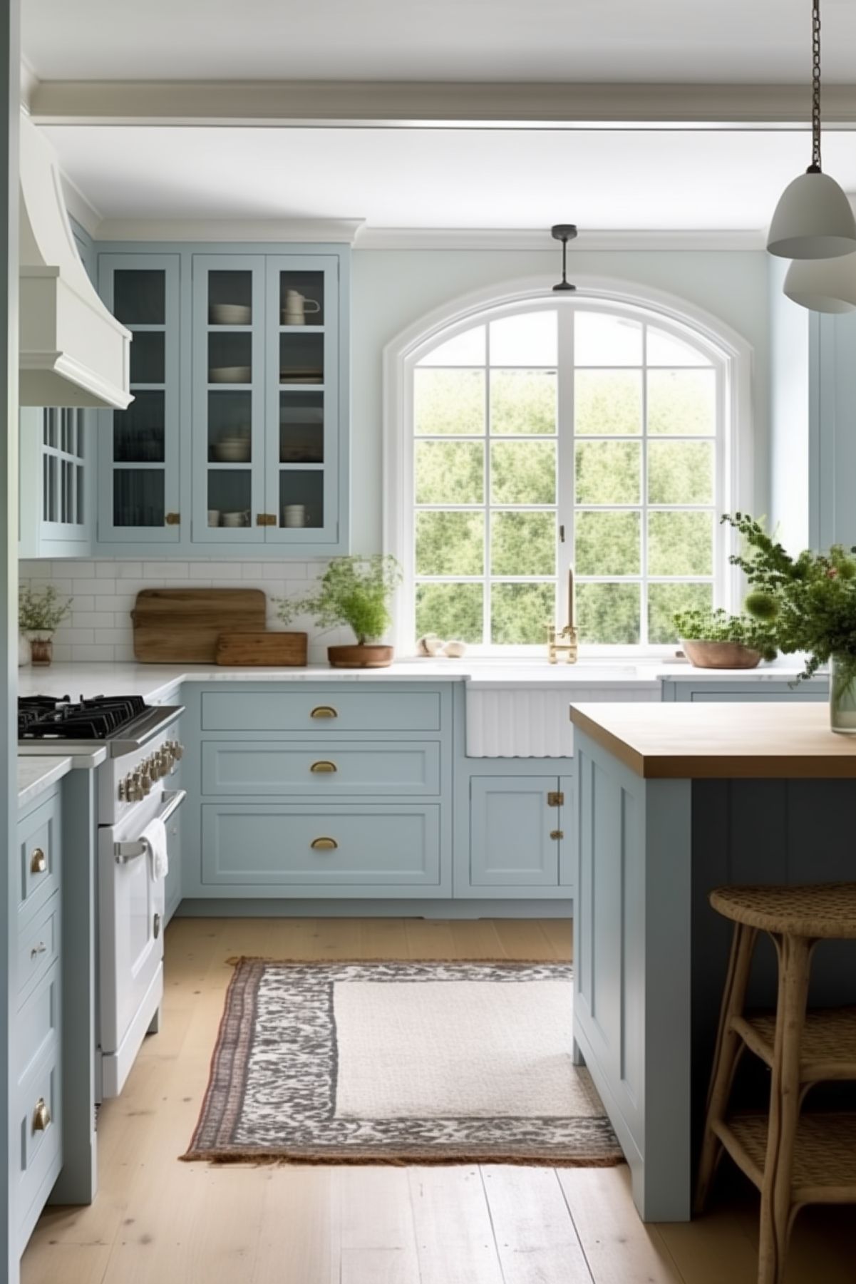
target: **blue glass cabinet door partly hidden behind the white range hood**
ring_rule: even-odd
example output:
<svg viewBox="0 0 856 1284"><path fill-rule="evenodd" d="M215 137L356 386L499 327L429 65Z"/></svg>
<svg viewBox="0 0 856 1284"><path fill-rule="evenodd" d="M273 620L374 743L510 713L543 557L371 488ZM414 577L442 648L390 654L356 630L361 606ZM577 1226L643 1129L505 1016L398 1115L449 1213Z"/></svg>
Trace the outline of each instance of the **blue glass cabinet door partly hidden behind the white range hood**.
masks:
<svg viewBox="0 0 856 1284"><path fill-rule="evenodd" d="M99 542L181 538L180 257L103 254L104 302L133 334L127 410L104 411Z"/></svg>

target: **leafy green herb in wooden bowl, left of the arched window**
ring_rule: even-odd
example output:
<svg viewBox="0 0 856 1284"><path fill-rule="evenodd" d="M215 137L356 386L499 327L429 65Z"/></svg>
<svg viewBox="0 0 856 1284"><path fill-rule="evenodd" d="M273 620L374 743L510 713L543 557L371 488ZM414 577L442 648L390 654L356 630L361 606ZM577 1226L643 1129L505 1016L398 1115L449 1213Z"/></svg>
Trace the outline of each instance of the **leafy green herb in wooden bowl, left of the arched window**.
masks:
<svg viewBox="0 0 856 1284"><path fill-rule="evenodd" d="M334 557L314 592L280 598L277 615L284 624L311 615L322 632L349 625L357 642L327 647L331 666L384 669L393 663L393 647L380 638L391 624L389 603L400 580L402 569L391 553Z"/></svg>

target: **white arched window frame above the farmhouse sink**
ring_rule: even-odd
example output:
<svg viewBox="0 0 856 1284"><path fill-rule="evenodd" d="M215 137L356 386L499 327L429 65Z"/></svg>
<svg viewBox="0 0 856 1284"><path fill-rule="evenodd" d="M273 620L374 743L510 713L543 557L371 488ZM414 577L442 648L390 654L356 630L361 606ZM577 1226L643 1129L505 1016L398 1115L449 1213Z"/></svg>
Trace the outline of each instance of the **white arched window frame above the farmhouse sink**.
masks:
<svg viewBox="0 0 856 1284"><path fill-rule="evenodd" d="M683 343L694 345L702 352L716 374L716 433L715 433L715 505L719 512L737 508L751 508L753 503L753 422L752 422L752 348L730 326L717 317L705 312L687 299L666 294L634 282L607 279L581 277L575 273L578 285L572 295L558 295L552 291L552 277L538 277L526 281L509 282L507 286L493 286L452 300L432 313L422 317L399 334L384 351L384 550L391 552L404 569L404 582L395 602L395 645L399 654L413 654L416 643L416 502L415 502L415 424L413 424L413 372L430 352L456 335L474 326L489 325L503 317L527 313L538 309L553 309L560 324L560 363L558 363L558 402L560 420L556 439L558 442L557 465L557 517L565 525L567 538L557 543L554 619L565 623L567 618L567 571L574 565L574 429L572 429L572 383L574 362L562 361L567 352L567 331L572 326L572 313L579 308L601 311L615 316L626 316L642 322L656 325L658 330L674 335ZM646 457L647 457L647 416L643 435L643 512L642 526L646 526ZM489 508L486 502L485 512ZM679 505L676 507L685 507ZM562 523L562 515L570 515L570 521ZM640 575L628 582L656 582L648 577L643 537L643 561ZM715 606L735 610L740 594L739 573L729 564L729 553L734 550L730 528L715 524L712 596ZM458 577L448 577L457 580ZM502 577L507 579L507 577ZM689 577L696 578L696 577ZM488 568L484 577L474 577L489 582ZM615 577L604 575L604 580ZM485 596L489 589L485 589ZM644 625L643 591L643 630ZM489 621L485 629L489 630ZM497 646L475 643L470 654L486 655L538 655L543 646ZM620 652L639 655L667 655L674 645L622 645L586 646L586 655L616 655Z"/></svg>

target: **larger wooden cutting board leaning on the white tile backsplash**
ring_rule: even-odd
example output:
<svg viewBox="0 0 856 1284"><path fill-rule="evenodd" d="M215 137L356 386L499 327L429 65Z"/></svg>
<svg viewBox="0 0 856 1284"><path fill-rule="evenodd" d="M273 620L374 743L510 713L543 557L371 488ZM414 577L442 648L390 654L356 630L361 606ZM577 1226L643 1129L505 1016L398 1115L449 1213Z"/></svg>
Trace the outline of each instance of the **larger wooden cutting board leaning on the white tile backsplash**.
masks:
<svg viewBox="0 0 856 1284"><path fill-rule="evenodd" d="M264 630L266 598L261 588L144 588L131 619L144 664L213 664L221 633Z"/></svg>

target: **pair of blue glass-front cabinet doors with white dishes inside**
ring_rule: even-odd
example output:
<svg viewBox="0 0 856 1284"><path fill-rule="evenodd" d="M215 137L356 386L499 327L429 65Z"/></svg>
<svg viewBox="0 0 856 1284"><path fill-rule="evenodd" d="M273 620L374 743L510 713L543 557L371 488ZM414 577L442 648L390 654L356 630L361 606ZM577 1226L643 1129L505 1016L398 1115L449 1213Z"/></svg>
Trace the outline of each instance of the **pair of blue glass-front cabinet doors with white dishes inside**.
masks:
<svg viewBox="0 0 856 1284"><path fill-rule="evenodd" d="M194 542L339 538L338 265L194 256Z"/></svg>

